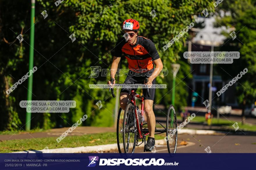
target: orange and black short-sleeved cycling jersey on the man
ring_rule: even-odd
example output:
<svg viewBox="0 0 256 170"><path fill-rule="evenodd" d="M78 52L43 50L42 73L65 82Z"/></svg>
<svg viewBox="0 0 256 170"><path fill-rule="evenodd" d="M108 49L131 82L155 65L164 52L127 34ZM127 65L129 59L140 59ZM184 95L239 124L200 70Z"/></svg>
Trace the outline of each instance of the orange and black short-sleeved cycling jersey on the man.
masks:
<svg viewBox="0 0 256 170"><path fill-rule="evenodd" d="M154 68L152 61L159 59L154 43L143 36L138 36L135 45L130 45L125 39L118 41L113 56L124 54L128 61L128 68L134 72L147 72Z"/></svg>

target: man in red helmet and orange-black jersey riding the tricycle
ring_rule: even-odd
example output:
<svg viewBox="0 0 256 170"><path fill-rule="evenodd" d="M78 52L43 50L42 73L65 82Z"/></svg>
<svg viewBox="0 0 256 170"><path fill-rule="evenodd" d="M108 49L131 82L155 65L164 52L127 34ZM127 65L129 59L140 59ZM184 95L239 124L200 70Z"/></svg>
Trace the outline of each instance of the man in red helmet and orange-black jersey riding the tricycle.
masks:
<svg viewBox="0 0 256 170"><path fill-rule="evenodd" d="M156 82L156 77L163 68L162 61L159 57L154 43L143 36L138 36L139 22L134 19L127 19L122 24L122 30L126 34L126 39L118 41L113 52L113 61L111 65L111 78L115 79L115 74L118 68L122 54L128 61L128 75L125 79L125 84L146 84L152 85ZM154 68L155 65L155 68ZM145 78L148 77L148 82L145 83ZM108 81L108 84L111 84ZM115 84L115 81L113 82ZM144 111L147 118L147 126L149 129L149 137L145 145L146 151L154 149L154 131L155 131L155 115L153 112L153 101L155 89L149 88L150 97L143 89L144 95ZM120 107L125 110L128 100L129 89L121 89L120 92Z"/></svg>

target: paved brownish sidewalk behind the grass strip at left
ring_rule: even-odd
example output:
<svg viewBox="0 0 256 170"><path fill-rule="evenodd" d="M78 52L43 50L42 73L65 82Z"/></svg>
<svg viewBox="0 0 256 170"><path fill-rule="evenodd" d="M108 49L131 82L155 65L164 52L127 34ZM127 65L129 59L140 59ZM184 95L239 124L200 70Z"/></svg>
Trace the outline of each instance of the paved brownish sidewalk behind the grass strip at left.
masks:
<svg viewBox="0 0 256 170"><path fill-rule="evenodd" d="M67 129L70 127L49 129L45 132L22 132L22 134L18 134L18 132L14 135L0 135L1 140L14 140L14 139L30 139L30 138L44 138L44 137L57 137L61 136ZM92 126L81 126L77 127L72 133L69 135L86 135L86 134L97 134L104 132L116 132L114 127L92 127Z"/></svg>

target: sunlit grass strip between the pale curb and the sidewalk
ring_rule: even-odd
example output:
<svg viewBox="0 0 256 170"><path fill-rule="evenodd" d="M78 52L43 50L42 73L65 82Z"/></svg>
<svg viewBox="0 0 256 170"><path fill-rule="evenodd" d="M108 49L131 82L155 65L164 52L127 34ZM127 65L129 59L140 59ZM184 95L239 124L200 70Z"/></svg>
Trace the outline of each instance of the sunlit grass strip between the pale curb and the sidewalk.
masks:
<svg viewBox="0 0 256 170"><path fill-rule="evenodd" d="M156 135L155 138L163 139L165 134ZM19 140L0 141L0 153L42 150L45 147L49 149L81 146L97 146L116 143L116 133L88 134L83 136L66 136L61 142L56 142L57 137L31 138ZM95 140L95 142L90 142Z"/></svg>

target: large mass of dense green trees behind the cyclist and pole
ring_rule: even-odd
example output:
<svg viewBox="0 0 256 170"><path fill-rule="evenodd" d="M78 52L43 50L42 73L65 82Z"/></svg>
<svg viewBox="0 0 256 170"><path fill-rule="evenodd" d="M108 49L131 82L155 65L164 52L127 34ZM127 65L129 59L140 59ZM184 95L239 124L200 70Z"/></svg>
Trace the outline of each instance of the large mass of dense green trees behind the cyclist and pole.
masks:
<svg viewBox="0 0 256 170"><path fill-rule="evenodd" d="M0 1L0 130L19 129L25 124L26 111L19 107L19 101L26 100L27 81L9 95L5 91L28 72L30 8L30 1ZM211 1L64 0L56 7L54 1L37 0L34 65L38 70L33 74L33 100L76 100L77 107L67 114L32 114L32 127L70 126L84 114L88 115L88 120L83 125L113 125L115 100L106 89L90 89L88 86L106 83L109 77L88 77L90 66L110 68L111 50L123 35L121 23L128 18L139 21L139 34L155 43L164 67L170 69L170 64L179 60L178 54L188 34L168 50L162 51L162 47L193 21L193 15L201 15L205 8L209 12L213 10ZM157 14L155 18L150 15L153 9ZM46 19L40 14L44 10L48 14ZM16 37L21 33L24 41L19 43ZM69 39L72 33L77 39L73 43ZM186 63L180 63L182 69L177 76L182 80L190 68ZM122 60L120 68L126 67L126 61ZM157 78L158 83L168 84L168 89L156 96L157 103L171 103L171 91L164 96L172 87L171 77L169 72L169 78ZM186 105L186 88L184 83L176 88L178 106ZM95 105L98 100L102 101L101 109Z"/></svg>

